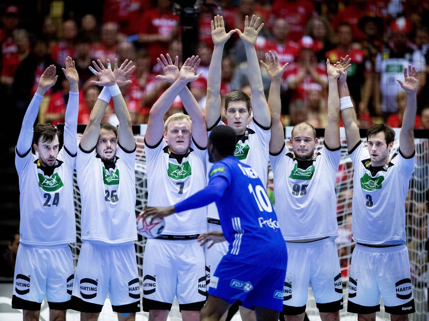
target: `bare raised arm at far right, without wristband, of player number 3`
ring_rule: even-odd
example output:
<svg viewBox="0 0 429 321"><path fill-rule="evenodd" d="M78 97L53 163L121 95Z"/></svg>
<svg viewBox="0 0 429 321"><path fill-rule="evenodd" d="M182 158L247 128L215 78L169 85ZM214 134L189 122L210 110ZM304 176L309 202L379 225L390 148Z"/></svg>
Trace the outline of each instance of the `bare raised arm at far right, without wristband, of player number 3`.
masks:
<svg viewBox="0 0 429 321"><path fill-rule="evenodd" d="M399 134L399 148L404 157L414 153L414 123L417 113L417 90L419 89L419 71L415 66L408 65L403 69L404 82L397 79L400 87L405 90L407 101L403 113L402 127Z"/></svg>

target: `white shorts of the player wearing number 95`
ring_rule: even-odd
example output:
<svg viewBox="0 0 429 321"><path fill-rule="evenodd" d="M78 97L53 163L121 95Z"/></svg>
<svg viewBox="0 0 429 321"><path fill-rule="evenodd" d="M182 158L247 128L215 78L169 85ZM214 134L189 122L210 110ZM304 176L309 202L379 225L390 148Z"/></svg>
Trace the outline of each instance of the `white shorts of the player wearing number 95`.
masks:
<svg viewBox="0 0 429 321"><path fill-rule="evenodd" d="M286 247L285 314L305 312L310 284L319 312L343 309L343 285L335 237L307 243L286 242Z"/></svg>

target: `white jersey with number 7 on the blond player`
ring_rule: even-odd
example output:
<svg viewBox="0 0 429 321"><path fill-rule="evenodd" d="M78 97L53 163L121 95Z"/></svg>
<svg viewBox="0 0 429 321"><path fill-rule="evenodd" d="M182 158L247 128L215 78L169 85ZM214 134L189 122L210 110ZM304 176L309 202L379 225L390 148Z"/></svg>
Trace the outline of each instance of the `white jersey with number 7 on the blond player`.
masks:
<svg viewBox="0 0 429 321"><path fill-rule="evenodd" d="M144 144L147 168L147 205L171 206L207 186L205 148L191 140L188 153L181 164L170 153L164 139L156 146ZM165 218L163 234L192 235L207 231L207 208L200 207Z"/></svg>

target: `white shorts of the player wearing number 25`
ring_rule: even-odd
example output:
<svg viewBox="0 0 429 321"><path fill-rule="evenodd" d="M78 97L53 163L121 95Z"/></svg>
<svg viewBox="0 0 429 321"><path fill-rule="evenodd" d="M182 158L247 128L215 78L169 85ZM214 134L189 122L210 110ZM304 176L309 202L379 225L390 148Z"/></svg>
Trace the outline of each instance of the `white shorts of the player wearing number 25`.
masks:
<svg viewBox="0 0 429 321"><path fill-rule="evenodd" d="M74 309L101 312L108 293L114 312L140 311L140 282L134 245L83 243L73 288L73 297L79 299Z"/></svg>

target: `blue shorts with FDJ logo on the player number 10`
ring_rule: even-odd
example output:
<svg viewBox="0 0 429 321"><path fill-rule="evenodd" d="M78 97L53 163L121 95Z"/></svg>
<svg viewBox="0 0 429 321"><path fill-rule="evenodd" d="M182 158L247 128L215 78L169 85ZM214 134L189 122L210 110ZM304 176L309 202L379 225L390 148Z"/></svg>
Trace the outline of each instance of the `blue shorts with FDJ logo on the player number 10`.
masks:
<svg viewBox="0 0 429 321"><path fill-rule="evenodd" d="M262 307L283 311L283 283L286 269L255 266L224 257L210 278L208 294L255 310Z"/></svg>

